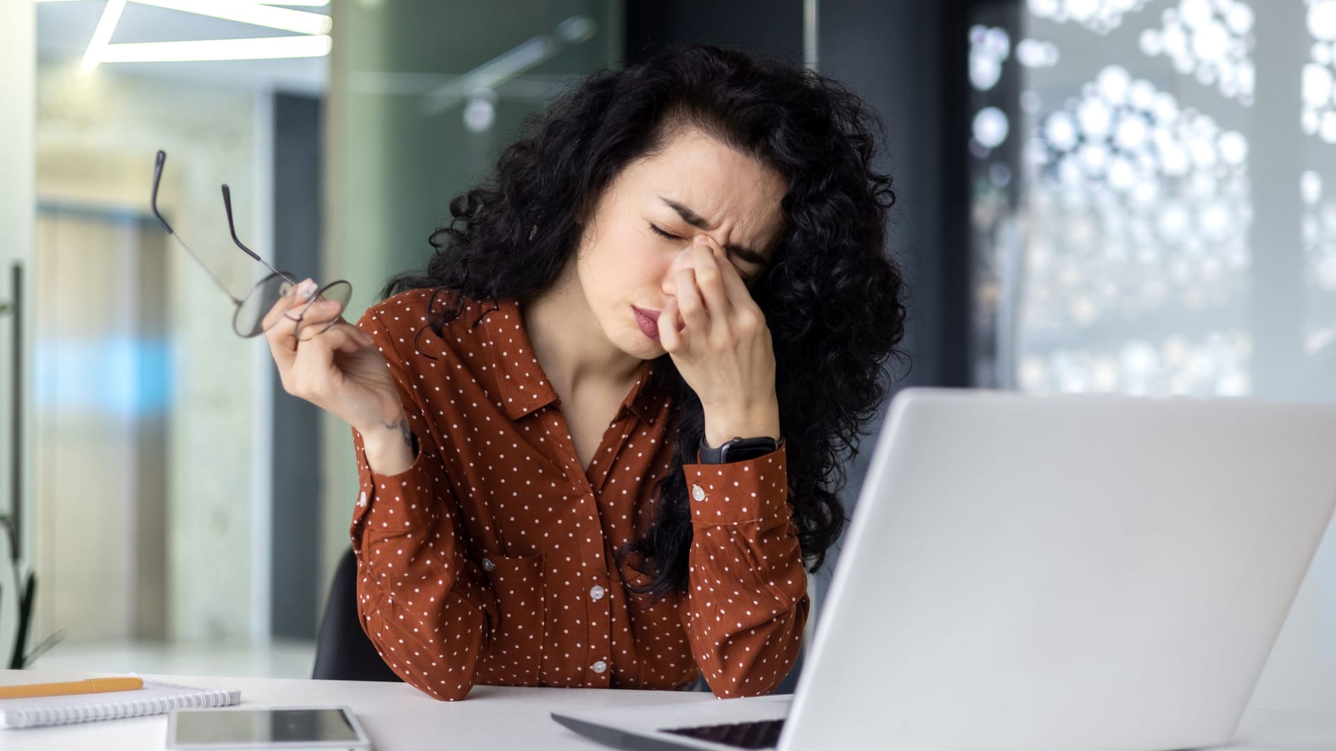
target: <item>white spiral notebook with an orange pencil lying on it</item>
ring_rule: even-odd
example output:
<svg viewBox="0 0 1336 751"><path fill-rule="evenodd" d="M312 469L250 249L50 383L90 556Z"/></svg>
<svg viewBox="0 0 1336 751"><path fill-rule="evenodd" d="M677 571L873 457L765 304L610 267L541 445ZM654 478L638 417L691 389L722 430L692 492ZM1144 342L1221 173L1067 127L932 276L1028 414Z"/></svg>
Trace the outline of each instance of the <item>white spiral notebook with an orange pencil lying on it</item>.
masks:
<svg viewBox="0 0 1336 751"><path fill-rule="evenodd" d="M227 707L240 691L191 688L144 680L135 691L0 699L0 730L163 715L180 707Z"/></svg>

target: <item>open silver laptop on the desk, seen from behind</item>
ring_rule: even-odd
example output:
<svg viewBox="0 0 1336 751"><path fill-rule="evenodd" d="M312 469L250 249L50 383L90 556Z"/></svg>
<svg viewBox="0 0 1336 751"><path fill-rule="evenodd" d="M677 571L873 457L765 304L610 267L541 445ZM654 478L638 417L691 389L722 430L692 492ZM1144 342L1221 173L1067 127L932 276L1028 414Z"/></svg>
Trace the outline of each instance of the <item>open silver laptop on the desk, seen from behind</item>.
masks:
<svg viewBox="0 0 1336 751"><path fill-rule="evenodd" d="M906 389L795 694L552 716L637 750L1225 743L1332 457L1336 405Z"/></svg>

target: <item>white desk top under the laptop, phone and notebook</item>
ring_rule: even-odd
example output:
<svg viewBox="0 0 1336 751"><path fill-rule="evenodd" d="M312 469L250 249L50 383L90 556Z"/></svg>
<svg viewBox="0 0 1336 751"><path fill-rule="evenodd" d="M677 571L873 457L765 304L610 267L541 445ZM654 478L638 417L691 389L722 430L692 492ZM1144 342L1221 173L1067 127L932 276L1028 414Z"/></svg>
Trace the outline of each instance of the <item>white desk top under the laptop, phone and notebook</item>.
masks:
<svg viewBox="0 0 1336 751"><path fill-rule="evenodd" d="M0 671L0 686L90 678L52 671ZM508 688L478 686L464 702L437 702L402 683L275 678L144 676L207 688L235 688L242 704L347 704L377 751L534 751L604 748L552 720L554 710L713 702L708 694ZM0 731L4 751L152 751L167 742L167 716ZM1336 748L1336 714L1249 712L1234 743L1216 751L1316 751Z"/></svg>

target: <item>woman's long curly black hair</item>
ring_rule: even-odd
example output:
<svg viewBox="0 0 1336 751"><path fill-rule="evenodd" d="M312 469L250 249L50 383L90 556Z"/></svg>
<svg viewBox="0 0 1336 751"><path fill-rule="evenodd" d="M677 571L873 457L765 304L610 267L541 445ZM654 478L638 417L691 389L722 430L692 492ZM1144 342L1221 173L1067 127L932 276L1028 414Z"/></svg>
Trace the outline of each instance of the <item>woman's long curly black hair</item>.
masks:
<svg viewBox="0 0 1336 751"><path fill-rule="evenodd" d="M839 539L844 460L890 390L886 367L903 355L902 274L886 254L891 176L874 168L880 120L842 84L780 60L707 45L672 47L623 71L604 69L526 122L490 179L450 202L453 219L432 237L426 271L399 274L382 291L436 287L453 303L429 326L438 334L464 298L521 303L550 287L577 251L581 216L617 174L695 126L787 179L786 231L752 295L770 326L790 504L811 571ZM572 208L573 207L573 208ZM436 295L433 295L433 302ZM700 401L664 355L660 386L676 393L673 470L659 481L659 509L621 549L661 596L687 584L691 512L681 465L696 461Z"/></svg>

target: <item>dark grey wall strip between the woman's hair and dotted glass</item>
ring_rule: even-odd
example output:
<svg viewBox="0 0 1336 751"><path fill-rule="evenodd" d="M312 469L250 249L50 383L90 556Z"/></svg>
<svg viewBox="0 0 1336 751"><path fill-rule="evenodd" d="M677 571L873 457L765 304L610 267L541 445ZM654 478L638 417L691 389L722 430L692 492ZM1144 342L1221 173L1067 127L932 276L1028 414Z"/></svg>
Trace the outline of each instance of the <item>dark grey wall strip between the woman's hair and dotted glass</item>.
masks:
<svg viewBox="0 0 1336 751"><path fill-rule="evenodd" d="M966 194L965 3L822 0L820 72L843 82L880 115L880 168L895 182L888 251L908 289L903 386L969 386L970 263ZM850 465L854 506L878 424Z"/></svg>

